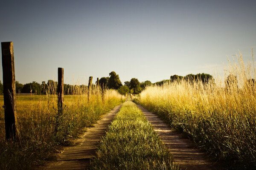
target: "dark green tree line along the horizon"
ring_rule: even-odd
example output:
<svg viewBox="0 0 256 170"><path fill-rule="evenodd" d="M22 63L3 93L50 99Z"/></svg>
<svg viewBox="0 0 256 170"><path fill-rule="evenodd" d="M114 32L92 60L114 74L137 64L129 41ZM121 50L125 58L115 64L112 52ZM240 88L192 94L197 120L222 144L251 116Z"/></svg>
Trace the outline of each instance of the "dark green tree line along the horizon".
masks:
<svg viewBox="0 0 256 170"><path fill-rule="evenodd" d="M111 71L109 73L109 77L102 77L99 79L99 86L102 89L115 89L119 91L120 94L139 94L141 91L145 89L146 86L150 85L163 85L166 82L179 82L181 80L186 80L189 82L199 82L201 81L203 84L214 82L212 75L200 73L200 74L188 74L186 76L178 76L173 75L170 79L164 79L159 82L151 83L151 81L146 80L145 82L140 82L137 78L132 78L130 81L125 81L124 85L120 81L119 75L116 74L115 71ZM229 88L230 84L237 84L236 76L230 74L225 79L225 87ZM248 79L249 84L255 84L254 79ZM26 84L21 84L18 81L15 82L16 85L16 93L33 93L33 94L56 94L56 89L58 82L53 80L48 80L47 82L42 82L41 84L38 82L30 82ZM237 85L238 86L238 85ZM69 85L64 84L64 94L76 94L76 89L86 89L87 85ZM0 94L3 94L3 84L0 81Z"/></svg>

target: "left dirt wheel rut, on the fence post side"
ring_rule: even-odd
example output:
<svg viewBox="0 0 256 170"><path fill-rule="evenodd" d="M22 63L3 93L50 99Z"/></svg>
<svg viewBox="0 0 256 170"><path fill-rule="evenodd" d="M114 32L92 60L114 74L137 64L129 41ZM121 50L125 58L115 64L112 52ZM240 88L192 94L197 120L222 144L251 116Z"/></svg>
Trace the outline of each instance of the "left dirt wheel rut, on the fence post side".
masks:
<svg viewBox="0 0 256 170"><path fill-rule="evenodd" d="M100 138L105 135L108 125L121 108L116 106L109 113L102 116L94 127L87 128L87 132L81 139L75 141L75 146L64 147L64 151L58 154L57 161L49 163L43 170L87 170L90 159L96 155L96 147Z"/></svg>

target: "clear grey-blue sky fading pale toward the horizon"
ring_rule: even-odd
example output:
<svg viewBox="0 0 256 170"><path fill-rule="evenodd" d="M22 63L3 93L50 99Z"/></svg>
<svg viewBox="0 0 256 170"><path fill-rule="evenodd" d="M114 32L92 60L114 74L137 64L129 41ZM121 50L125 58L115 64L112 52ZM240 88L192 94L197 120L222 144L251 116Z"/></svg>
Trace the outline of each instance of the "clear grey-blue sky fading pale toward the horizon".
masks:
<svg viewBox="0 0 256 170"><path fill-rule="evenodd" d="M57 80L58 67L66 84L223 75L228 57L256 49L256 0L5 0L0 23L22 84Z"/></svg>

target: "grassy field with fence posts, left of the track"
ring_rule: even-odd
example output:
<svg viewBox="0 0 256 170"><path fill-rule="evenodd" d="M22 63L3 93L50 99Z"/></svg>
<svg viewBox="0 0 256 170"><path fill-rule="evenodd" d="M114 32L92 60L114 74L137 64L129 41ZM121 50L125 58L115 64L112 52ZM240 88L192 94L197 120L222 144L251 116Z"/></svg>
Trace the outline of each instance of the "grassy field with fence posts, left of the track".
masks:
<svg viewBox="0 0 256 170"><path fill-rule="evenodd" d="M0 109L0 169L28 170L54 159L61 146L72 144L84 127L125 99L116 91L93 89L88 101L84 89L64 96L63 114L56 117L57 95L16 96L17 141L6 142L4 110ZM80 91L80 92L79 92ZM82 93L83 92L83 93ZM80 93L80 94L79 94ZM3 96L0 96L3 105ZM59 126L56 127L56 119Z"/></svg>

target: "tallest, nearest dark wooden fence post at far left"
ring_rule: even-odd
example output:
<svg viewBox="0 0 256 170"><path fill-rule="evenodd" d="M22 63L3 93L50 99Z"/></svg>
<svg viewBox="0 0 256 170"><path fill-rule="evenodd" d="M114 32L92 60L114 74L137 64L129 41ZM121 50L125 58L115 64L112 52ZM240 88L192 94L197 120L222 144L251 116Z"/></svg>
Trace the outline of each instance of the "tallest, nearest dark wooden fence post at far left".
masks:
<svg viewBox="0 0 256 170"><path fill-rule="evenodd" d="M3 65L3 101L4 101L4 120L6 130L6 140L16 138L16 88L13 42L1 42L2 46L2 65Z"/></svg>

